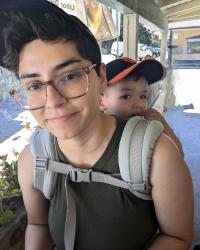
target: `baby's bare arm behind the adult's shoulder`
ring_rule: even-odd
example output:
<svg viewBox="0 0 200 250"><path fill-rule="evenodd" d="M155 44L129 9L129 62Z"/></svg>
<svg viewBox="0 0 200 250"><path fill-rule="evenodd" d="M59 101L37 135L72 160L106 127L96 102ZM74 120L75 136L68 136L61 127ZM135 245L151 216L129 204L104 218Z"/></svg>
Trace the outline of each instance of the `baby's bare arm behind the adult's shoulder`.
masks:
<svg viewBox="0 0 200 250"><path fill-rule="evenodd" d="M156 120L162 123L163 127L164 127L164 133L166 135L168 135L172 141L176 144L179 152L182 154L182 156L184 156L184 152L183 152L183 148L181 145L180 140L178 139L178 137L174 134L173 130L169 127L167 121L165 120L165 118L162 116L161 113L159 113L157 110L150 108L146 111L144 117L147 120Z"/></svg>

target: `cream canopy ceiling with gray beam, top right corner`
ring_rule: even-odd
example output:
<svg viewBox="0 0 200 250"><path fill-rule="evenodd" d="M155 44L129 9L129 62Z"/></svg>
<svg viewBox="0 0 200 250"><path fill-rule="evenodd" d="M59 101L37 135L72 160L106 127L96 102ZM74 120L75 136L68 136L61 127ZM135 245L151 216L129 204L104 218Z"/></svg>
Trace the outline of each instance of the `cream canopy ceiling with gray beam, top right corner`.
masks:
<svg viewBox="0 0 200 250"><path fill-rule="evenodd" d="M125 14L137 13L167 32L168 23L200 19L200 0L99 0Z"/></svg>

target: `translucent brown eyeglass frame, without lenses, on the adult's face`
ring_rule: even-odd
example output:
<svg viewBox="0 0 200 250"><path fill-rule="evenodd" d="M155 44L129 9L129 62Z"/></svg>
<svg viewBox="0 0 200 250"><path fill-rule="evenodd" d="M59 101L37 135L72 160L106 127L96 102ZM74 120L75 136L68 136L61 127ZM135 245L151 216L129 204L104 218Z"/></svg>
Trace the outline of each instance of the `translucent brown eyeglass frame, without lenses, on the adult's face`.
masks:
<svg viewBox="0 0 200 250"><path fill-rule="evenodd" d="M20 87L18 87L17 89L13 89L13 90L11 90L11 91L9 92L9 94L10 94L10 96L11 96L12 98L14 98L14 100L16 101L16 103L17 103L19 106L21 106L23 109L25 109L25 110L38 110L38 109L41 109L41 108L44 108L44 107L45 107L46 101L47 101L47 87L48 87L49 85L50 85L50 86L53 86L53 87L55 88L55 90L59 93L59 95L63 96L63 97L64 97L65 99L67 99L67 100L80 98L80 97L82 97L82 96L84 96L84 95L87 94L87 92L88 92L88 90L89 90L89 86L90 86L90 82L89 82L89 73L90 73L90 71L91 71L92 69L94 69L94 68L97 67L97 66L99 66L99 64L95 63L95 64L92 64L92 65L90 65L90 66L88 66L88 67L85 67L85 68L83 68L83 69L73 70L73 71L70 71L70 72L64 74L64 76L66 76L66 75L71 74L71 73L74 73L74 72L76 72L76 71L84 71L84 72L86 73L87 88L86 88L86 91L85 91L83 94L79 95L79 96L75 96L75 97L65 97L65 96L63 96L63 95L57 90L57 88L55 87L55 85L56 85L55 83L58 82L63 76L56 77L54 80L49 80L49 81L46 81L46 82L41 82L41 85L43 85L43 87L45 87L45 89L46 89L46 100L45 100L45 104L42 105L42 106L40 106L40 107L38 107L38 108L26 108L23 104L21 104L19 101L17 101L17 99L16 99L16 97L15 97L15 93L16 93L17 91L19 91L20 89L26 88L25 86L20 86Z"/></svg>

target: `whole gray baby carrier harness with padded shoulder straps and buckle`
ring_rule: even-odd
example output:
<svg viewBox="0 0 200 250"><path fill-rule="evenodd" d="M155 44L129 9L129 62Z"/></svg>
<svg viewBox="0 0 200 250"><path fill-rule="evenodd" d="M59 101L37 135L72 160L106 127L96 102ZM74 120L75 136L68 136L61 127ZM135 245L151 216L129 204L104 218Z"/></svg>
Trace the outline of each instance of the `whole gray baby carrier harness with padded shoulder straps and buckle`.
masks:
<svg viewBox="0 0 200 250"><path fill-rule="evenodd" d="M61 163L55 150L56 138L45 129L33 134L30 148L35 160L34 187L50 199L54 193L57 174L66 175L65 249L73 250L76 229L76 208L68 182L106 183L128 189L141 199L151 200L149 165L155 143L162 132L163 126L158 121L147 121L139 116L129 119L119 144L120 173L116 174L104 174L92 169L80 169Z"/></svg>

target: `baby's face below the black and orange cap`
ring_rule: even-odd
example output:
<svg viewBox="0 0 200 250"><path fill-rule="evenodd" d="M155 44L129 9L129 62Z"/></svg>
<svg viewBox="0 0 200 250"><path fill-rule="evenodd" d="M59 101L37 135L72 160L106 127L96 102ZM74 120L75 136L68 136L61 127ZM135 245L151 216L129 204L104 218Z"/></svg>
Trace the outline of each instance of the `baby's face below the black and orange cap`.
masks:
<svg viewBox="0 0 200 250"><path fill-rule="evenodd" d="M107 87L102 102L104 113L124 120L132 116L143 116L148 108L148 83L145 78L123 79Z"/></svg>

